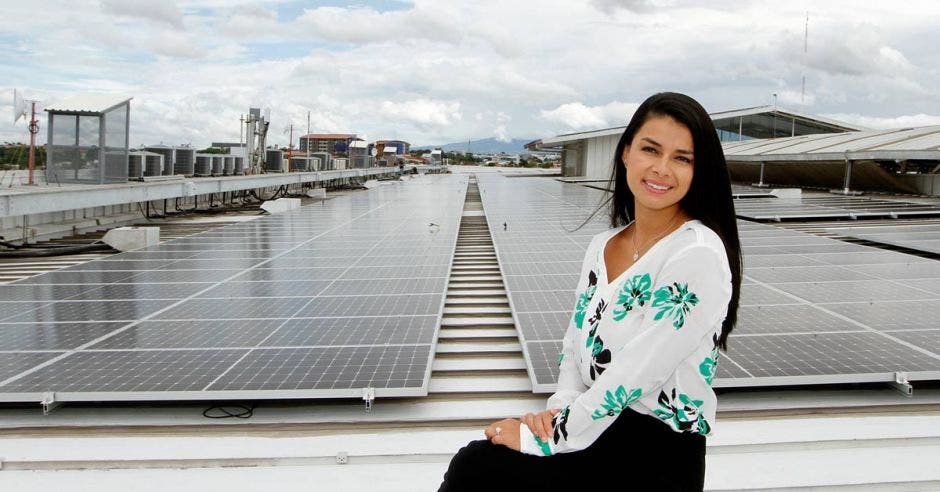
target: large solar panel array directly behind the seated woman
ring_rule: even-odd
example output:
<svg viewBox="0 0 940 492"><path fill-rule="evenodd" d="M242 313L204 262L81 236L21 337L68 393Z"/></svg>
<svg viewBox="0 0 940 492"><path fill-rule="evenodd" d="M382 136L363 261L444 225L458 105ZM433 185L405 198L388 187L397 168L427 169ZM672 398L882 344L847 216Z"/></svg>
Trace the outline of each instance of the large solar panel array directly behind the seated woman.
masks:
<svg viewBox="0 0 940 492"><path fill-rule="evenodd" d="M568 231L603 193L479 179L533 387L551 392L581 260L607 228L604 212ZM739 322L715 386L940 379L940 262L766 224L739 221L739 230Z"/></svg>

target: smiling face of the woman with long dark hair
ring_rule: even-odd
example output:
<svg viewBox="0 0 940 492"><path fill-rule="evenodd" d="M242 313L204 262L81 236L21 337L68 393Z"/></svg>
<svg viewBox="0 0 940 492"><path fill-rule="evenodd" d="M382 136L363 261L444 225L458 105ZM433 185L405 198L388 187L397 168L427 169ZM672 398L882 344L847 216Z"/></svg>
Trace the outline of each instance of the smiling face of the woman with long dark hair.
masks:
<svg viewBox="0 0 940 492"><path fill-rule="evenodd" d="M669 116L650 116L623 149L627 186L637 214L679 211L679 200L692 185L692 133Z"/></svg>

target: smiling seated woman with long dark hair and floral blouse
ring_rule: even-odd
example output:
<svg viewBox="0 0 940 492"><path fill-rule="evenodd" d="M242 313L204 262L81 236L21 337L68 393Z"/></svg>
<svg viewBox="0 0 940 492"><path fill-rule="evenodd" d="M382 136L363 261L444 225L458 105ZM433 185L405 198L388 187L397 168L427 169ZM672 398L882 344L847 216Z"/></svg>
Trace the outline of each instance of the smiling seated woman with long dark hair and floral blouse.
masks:
<svg viewBox="0 0 940 492"><path fill-rule="evenodd" d="M547 410L487 427L453 458L442 491L702 490L711 384L741 285L711 118L688 96L650 97L611 180L613 229L588 246Z"/></svg>

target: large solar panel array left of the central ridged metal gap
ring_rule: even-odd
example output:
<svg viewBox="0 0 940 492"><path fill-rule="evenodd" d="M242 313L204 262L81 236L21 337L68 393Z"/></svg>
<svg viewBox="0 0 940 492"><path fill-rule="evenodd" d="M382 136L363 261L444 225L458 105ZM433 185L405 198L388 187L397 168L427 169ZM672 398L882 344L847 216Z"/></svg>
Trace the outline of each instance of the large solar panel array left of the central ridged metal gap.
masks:
<svg viewBox="0 0 940 492"><path fill-rule="evenodd" d="M427 393L466 178L426 176L0 286L0 401Z"/></svg>

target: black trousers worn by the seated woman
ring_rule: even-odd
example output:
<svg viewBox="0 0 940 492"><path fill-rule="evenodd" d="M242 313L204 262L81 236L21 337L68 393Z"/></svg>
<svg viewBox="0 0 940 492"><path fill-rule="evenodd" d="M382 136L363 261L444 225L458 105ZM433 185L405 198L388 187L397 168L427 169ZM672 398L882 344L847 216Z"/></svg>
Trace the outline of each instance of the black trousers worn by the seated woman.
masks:
<svg viewBox="0 0 940 492"><path fill-rule="evenodd" d="M704 436L676 432L655 417L627 409L587 449L573 453L532 456L473 441L451 460L438 492L700 492L704 484Z"/></svg>

